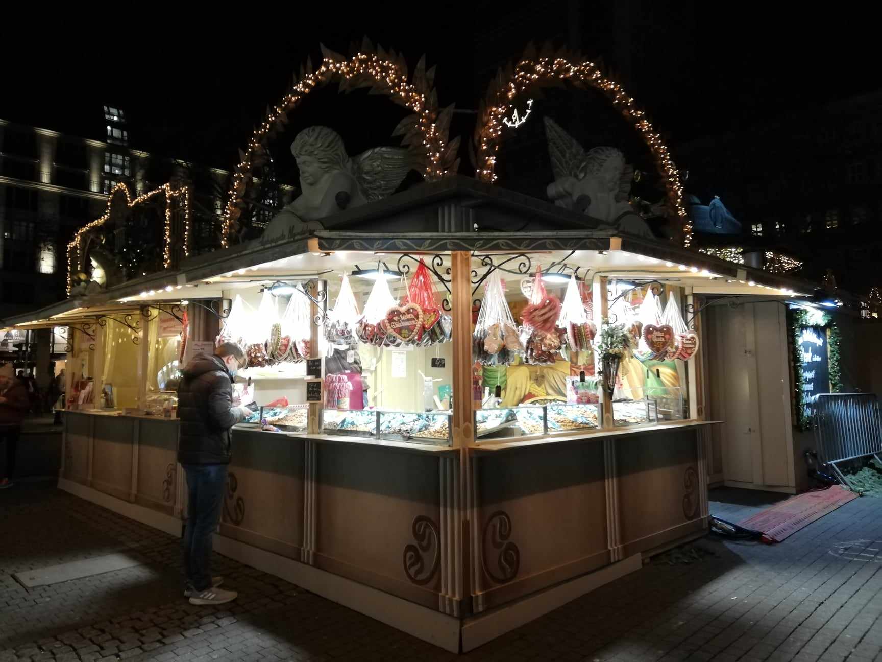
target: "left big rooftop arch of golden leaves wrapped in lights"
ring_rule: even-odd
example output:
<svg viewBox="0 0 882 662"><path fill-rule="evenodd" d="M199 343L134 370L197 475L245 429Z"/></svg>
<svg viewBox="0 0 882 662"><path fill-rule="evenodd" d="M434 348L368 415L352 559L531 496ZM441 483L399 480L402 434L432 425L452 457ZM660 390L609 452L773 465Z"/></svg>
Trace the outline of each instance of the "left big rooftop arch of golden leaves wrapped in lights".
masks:
<svg viewBox="0 0 882 662"><path fill-rule="evenodd" d="M239 151L239 163L235 167L232 184L224 208L221 245L226 248L228 235L236 220L242 214L245 191L253 179L252 169L265 162L265 151L269 139L284 129L288 123L288 113L303 101L310 92L333 79L340 80L340 92L357 87L370 87L371 94L385 94L413 111L405 117L392 132L402 136L403 145L416 148L424 158L422 176L436 181L454 174L459 167L457 153L460 148L459 137L448 142L448 132L453 114L453 106L438 110L437 94L432 88L435 67L425 68L425 56L416 65L414 75L407 82L407 63L404 57L394 50L385 52L374 47L365 39L360 49L350 58L345 58L333 50L321 46L323 60L317 71L307 60L305 71L301 68L300 80L282 97L281 101L267 107L264 122L254 130L247 149ZM422 148L421 148L422 147Z"/></svg>

